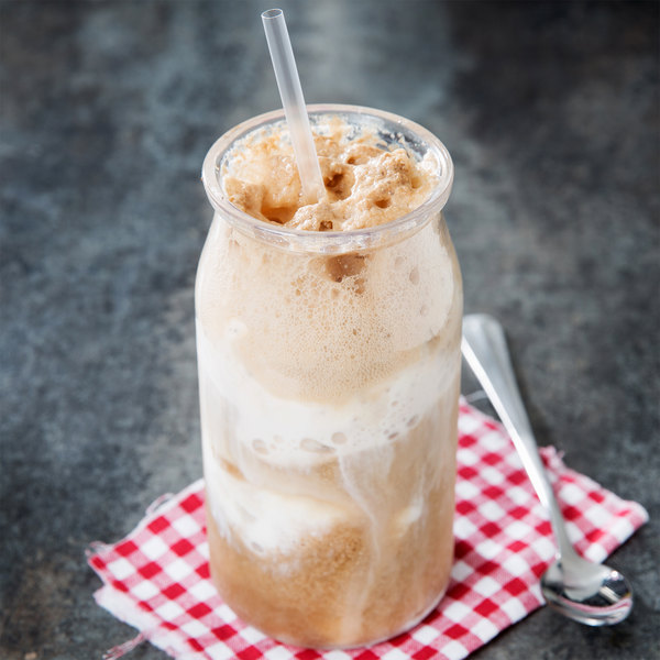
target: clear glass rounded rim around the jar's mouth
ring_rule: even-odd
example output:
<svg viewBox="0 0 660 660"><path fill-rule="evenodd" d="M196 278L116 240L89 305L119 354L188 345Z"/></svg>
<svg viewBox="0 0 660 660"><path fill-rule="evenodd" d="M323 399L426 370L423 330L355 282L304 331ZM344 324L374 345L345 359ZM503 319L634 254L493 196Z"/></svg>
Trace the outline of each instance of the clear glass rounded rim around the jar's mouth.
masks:
<svg viewBox="0 0 660 660"><path fill-rule="evenodd" d="M361 246L373 245L386 235L395 239L396 237L408 234L421 228L432 216L442 210L453 184L453 162L444 144L430 131L392 112L363 106L319 103L307 106L307 111L310 116L364 114L405 128L426 143L438 160L438 172L436 173L438 185L433 188L429 197L410 212L396 220L365 229L319 232L271 224L258 220L231 204L220 183L219 164L235 141L263 125L285 119L284 110L274 110L253 117L230 129L213 143L204 160L201 180L209 201L216 211L220 212L223 218L238 229L254 234L262 240L289 248L295 246L299 250L310 252L346 252Z"/></svg>

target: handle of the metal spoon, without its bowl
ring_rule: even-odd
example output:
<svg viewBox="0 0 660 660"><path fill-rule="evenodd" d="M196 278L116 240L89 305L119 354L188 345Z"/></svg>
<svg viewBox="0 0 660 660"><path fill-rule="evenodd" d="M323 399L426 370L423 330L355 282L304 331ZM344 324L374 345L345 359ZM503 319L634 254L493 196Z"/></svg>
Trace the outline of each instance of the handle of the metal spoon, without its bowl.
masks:
<svg viewBox="0 0 660 660"><path fill-rule="evenodd" d="M502 326L485 314L465 316L461 349L508 431L541 504L550 514L561 554L564 558L574 554L520 398Z"/></svg>

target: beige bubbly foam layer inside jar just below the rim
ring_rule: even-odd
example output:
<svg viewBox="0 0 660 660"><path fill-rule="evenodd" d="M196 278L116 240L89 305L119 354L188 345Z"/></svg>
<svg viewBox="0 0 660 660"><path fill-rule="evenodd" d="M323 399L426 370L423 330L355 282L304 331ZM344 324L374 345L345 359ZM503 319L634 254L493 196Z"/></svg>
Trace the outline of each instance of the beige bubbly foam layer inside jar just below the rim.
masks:
<svg viewBox="0 0 660 660"><path fill-rule="evenodd" d="M199 322L282 398L361 396L446 341L460 275L433 221L377 251L309 257L217 223L197 282Z"/></svg>

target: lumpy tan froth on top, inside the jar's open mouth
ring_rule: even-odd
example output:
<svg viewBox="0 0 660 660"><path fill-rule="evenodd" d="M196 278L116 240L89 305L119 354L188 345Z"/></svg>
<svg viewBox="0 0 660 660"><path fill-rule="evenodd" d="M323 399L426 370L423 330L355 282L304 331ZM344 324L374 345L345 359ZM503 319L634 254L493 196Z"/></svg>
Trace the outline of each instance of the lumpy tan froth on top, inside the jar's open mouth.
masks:
<svg viewBox="0 0 660 660"><path fill-rule="evenodd" d="M431 152L416 161L372 130L356 132L338 119L315 130L326 186L317 204L304 205L288 131L262 129L239 141L224 165L226 191L251 216L308 231L349 231L385 224L405 216L437 184Z"/></svg>

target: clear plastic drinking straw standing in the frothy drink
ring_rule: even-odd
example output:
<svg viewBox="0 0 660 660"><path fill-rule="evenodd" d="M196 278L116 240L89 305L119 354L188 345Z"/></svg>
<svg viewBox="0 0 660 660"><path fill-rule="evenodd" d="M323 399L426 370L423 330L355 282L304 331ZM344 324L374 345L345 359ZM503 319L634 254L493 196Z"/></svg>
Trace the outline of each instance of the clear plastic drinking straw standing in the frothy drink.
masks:
<svg viewBox="0 0 660 660"><path fill-rule="evenodd" d="M275 79L284 106L284 114L292 134L298 174L302 184L302 198L307 204L318 201L324 194L323 177L314 146L309 117L305 108L300 78L292 50L284 12L270 9L262 13L268 51L275 69Z"/></svg>

